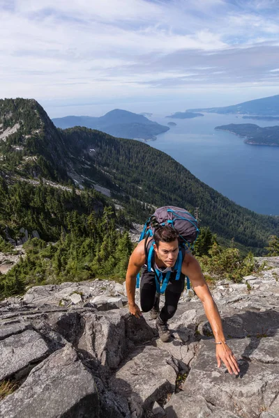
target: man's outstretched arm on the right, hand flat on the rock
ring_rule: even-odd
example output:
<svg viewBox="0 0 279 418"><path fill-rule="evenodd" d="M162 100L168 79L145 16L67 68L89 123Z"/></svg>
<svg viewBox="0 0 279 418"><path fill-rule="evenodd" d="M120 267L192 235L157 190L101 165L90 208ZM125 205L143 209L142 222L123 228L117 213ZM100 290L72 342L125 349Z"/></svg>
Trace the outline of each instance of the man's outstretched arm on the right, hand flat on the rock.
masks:
<svg viewBox="0 0 279 418"><path fill-rule="evenodd" d="M209 291L209 287L206 284L199 263L191 254L186 254L181 271L189 277L196 295L204 305L206 318L209 320L216 343L220 343L216 344L218 367L220 367L222 360L230 374L238 374L239 366L232 350L225 343L222 321L216 307L216 303L214 302Z"/></svg>

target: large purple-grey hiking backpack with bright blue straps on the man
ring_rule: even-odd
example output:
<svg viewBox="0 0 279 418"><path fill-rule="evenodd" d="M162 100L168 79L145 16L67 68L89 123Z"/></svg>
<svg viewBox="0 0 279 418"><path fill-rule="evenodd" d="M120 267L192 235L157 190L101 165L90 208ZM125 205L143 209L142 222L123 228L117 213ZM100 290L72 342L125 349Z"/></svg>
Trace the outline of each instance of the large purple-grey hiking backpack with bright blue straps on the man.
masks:
<svg viewBox="0 0 279 418"><path fill-rule="evenodd" d="M186 247L193 248L195 240L197 240L199 235L197 219L195 219L193 215L191 215L187 210L183 208L177 208L176 206L163 206L162 208L158 208L146 221L142 234L140 235L140 241L145 238L144 251L146 254L147 271L151 272L153 270L155 272L157 293L165 292L165 288L167 287L169 281L170 272L167 272L165 279L163 279L162 272L153 268L153 242L148 246L149 249L147 249L146 244L148 238L154 235L154 232L158 227L167 225L172 226L179 234L179 256L177 257L176 263L174 265L174 271L176 271L176 280L179 280L180 278L181 267L184 258L183 255L185 255ZM160 287L160 284L162 284L162 287ZM137 288L139 287L140 273L137 274ZM187 288L190 288L190 281L188 277Z"/></svg>

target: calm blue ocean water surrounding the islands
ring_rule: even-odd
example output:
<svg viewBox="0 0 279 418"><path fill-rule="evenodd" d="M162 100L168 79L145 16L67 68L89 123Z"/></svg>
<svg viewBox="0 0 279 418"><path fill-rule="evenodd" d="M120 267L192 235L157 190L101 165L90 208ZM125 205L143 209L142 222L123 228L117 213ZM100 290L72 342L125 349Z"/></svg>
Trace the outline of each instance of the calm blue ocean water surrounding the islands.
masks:
<svg viewBox="0 0 279 418"><path fill-rule="evenodd" d="M152 121L167 125L148 144L183 164L206 185L245 208L265 215L279 215L279 146L257 146L229 132L214 130L229 123L279 125L279 121L254 121L235 115L204 114L193 119L171 119L153 114Z"/></svg>

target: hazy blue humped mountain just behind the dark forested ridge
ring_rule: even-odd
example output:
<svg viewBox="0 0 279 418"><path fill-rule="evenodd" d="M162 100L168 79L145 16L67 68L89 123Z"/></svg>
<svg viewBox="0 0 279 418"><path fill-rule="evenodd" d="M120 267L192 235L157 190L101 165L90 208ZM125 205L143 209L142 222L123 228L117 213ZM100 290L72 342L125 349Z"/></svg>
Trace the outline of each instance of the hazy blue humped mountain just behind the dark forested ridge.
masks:
<svg viewBox="0 0 279 418"><path fill-rule="evenodd" d="M149 121L143 115L134 114L130 111L114 109L100 118L91 116L65 116L64 118L52 119L56 127L84 126L100 130L114 137L130 139L152 139L155 135L169 130L169 127Z"/></svg>

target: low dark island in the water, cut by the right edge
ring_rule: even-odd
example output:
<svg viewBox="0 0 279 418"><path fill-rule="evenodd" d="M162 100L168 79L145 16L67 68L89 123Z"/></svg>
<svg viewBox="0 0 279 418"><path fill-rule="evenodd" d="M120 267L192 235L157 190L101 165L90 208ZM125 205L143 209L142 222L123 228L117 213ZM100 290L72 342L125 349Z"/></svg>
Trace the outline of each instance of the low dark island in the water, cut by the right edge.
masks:
<svg viewBox="0 0 279 418"><path fill-rule="evenodd" d="M246 144L279 146L279 126L260 127L253 123L230 123L229 125L216 126L215 129L244 137Z"/></svg>

